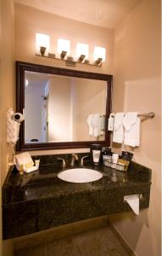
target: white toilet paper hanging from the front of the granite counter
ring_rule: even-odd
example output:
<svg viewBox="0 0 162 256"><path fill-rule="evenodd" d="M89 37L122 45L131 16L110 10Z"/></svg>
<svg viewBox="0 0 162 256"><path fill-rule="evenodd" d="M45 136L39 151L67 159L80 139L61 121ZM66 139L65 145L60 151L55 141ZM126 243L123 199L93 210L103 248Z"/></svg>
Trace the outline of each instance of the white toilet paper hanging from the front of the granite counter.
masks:
<svg viewBox="0 0 162 256"><path fill-rule="evenodd" d="M139 197L140 195L126 195L124 196L124 201L128 203L132 211L139 215Z"/></svg>

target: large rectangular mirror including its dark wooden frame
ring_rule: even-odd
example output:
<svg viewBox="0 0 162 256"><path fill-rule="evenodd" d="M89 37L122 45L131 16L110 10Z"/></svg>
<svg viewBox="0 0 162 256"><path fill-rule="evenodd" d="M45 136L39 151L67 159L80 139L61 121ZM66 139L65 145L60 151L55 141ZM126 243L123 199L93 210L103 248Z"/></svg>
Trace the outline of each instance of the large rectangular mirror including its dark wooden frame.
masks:
<svg viewBox="0 0 162 256"><path fill-rule="evenodd" d="M17 150L108 146L112 79L16 61L16 112L25 114Z"/></svg>

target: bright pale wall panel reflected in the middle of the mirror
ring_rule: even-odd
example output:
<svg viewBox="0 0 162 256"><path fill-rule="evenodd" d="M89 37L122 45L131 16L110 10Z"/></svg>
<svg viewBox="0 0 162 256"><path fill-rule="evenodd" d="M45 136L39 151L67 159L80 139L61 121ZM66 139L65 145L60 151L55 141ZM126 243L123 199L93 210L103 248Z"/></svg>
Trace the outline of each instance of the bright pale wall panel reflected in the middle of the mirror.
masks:
<svg viewBox="0 0 162 256"><path fill-rule="evenodd" d="M48 79L48 141L70 141L70 79Z"/></svg>

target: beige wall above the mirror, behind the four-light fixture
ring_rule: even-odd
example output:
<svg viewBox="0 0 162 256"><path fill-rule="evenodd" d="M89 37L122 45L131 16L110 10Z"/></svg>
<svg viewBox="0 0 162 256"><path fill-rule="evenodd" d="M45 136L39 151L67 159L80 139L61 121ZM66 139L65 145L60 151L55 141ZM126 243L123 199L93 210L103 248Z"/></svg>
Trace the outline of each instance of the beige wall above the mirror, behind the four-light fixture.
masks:
<svg viewBox="0 0 162 256"><path fill-rule="evenodd" d="M105 47L107 59L102 68L78 64L75 69L95 73L112 73L114 57L114 30L88 25L75 20L51 15L20 4L15 5L15 59L55 67L66 67L62 61L40 58L35 55L35 35L41 32L50 35L50 52L56 53L57 39L66 38L71 42L71 55L75 56L78 42L89 44L90 60L94 46ZM74 68L74 67L68 67Z"/></svg>

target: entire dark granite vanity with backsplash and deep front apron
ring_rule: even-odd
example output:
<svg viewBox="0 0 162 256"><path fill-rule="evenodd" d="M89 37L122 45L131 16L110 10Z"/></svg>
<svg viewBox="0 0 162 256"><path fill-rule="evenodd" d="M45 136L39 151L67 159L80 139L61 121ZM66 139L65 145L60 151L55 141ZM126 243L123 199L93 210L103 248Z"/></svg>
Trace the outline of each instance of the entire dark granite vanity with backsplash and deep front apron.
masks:
<svg viewBox="0 0 162 256"><path fill-rule="evenodd" d="M81 168L83 155L78 154L74 168ZM147 167L131 162L127 172L119 172L92 166L85 159L84 167L101 172L103 177L89 183L69 183L58 177L63 171L58 157L70 163L71 154L34 156L41 160L36 172L20 175L15 168L8 172L3 185L3 239L131 211L124 202L125 195L142 195L140 210L149 206L151 170Z"/></svg>

